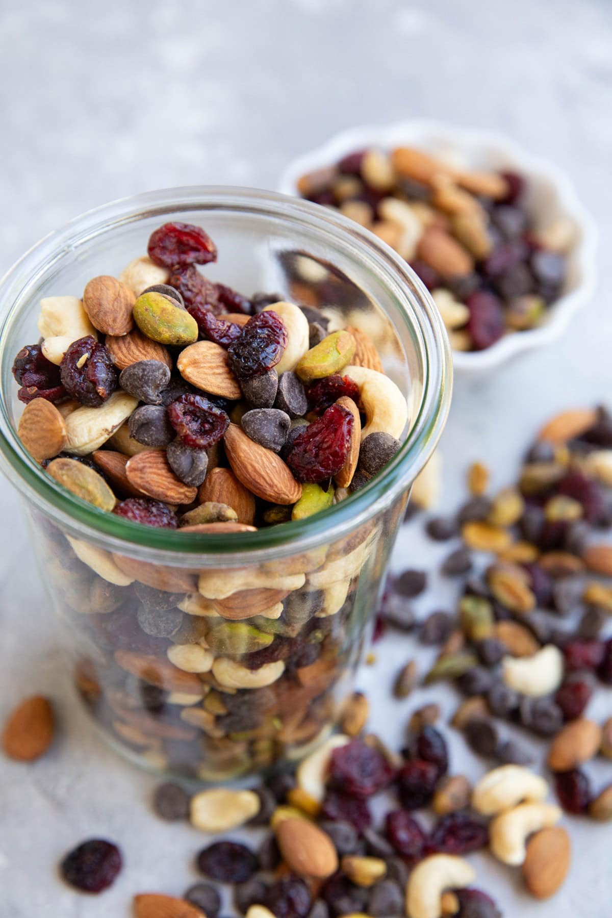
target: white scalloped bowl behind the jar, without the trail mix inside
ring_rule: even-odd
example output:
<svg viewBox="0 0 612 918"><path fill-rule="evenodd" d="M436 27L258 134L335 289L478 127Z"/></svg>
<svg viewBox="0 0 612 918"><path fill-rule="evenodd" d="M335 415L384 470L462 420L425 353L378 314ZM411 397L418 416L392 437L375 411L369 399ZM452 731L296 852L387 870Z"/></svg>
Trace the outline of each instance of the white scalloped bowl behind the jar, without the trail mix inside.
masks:
<svg viewBox="0 0 612 918"><path fill-rule="evenodd" d="M568 217L573 222L575 241L567 254L562 295L547 309L545 321L536 329L507 334L485 351L453 352L455 371L467 375L491 370L520 353L557 341L595 288L595 223L578 200L566 174L503 135L421 120L345 130L290 162L278 190L285 195L297 195L297 180L301 175L337 162L353 150L372 146L390 150L402 145L419 147L467 168L517 171L528 180L527 204L536 229L544 229L559 217Z"/></svg>

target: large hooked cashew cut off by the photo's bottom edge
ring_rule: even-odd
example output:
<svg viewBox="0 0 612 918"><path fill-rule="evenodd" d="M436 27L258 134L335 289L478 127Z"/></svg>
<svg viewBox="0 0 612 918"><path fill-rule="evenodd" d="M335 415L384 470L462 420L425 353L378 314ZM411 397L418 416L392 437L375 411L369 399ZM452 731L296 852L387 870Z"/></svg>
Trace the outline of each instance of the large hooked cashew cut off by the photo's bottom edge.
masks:
<svg viewBox="0 0 612 918"><path fill-rule="evenodd" d="M444 890L463 889L476 879L471 864L456 855L430 855L410 874L406 886L408 918L441 918Z"/></svg>

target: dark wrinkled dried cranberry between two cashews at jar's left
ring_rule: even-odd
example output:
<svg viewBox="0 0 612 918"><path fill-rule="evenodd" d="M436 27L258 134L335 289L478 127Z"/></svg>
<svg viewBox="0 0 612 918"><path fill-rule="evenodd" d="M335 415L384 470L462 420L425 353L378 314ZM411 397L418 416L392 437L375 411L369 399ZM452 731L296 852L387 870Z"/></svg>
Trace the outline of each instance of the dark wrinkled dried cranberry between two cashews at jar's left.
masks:
<svg viewBox="0 0 612 918"><path fill-rule="evenodd" d="M113 358L93 335L72 341L61 358L60 374L68 394L89 408L104 405L119 381Z"/></svg>

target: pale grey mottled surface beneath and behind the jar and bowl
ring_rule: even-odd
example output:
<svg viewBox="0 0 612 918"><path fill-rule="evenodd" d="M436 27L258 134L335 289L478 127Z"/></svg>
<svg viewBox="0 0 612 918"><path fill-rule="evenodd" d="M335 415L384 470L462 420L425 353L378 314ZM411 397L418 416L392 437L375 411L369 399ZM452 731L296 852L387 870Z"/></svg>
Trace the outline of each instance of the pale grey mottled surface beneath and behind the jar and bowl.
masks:
<svg viewBox="0 0 612 918"><path fill-rule="evenodd" d="M4 0L0 85L0 272L50 229L112 198L170 185L273 187L285 162L338 129L415 116L506 131L573 176L601 231L600 282L560 344L486 380L458 382L443 446L449 506L473 458L485 458L501 486L551 412L609 400L607 0ZM134 892L180 894L194 881L189 864L202 838L154 820L152 779L110 752L79 711L6 484L0 501L0 720L39 690L57 700L62 726L37 765L0 760L0 916L122 918ZM395 565L437 554L415 527ZM443 604L440 593L422 610ZM380 665L363 674L392 742L417 702L388 701L391 673L414 649L380 644ZM482 765L452 740L456 767L478 774ZM506 916L609 915L612 833L576 819L571 831L572 879L550 903L515 893L513 871L474 858ZM99 899L54 877L59 856L92 834L116 839L127 862Z"/></svg>

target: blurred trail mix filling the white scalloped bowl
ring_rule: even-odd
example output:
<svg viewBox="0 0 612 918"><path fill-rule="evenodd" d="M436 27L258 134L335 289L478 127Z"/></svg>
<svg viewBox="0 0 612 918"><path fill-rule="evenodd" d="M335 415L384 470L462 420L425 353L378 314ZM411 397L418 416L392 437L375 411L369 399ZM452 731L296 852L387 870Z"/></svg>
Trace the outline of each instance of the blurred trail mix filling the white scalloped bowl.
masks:
<svg viewBox="0 0 612 918"><path fill-rule="evenodd" d="M457 351L483 351L535 328L562 293L572 223L536 226L520 174L462 171L409 147L371 148L303 175L297 189L406 259Z"/></svg>

